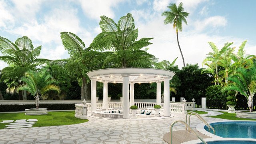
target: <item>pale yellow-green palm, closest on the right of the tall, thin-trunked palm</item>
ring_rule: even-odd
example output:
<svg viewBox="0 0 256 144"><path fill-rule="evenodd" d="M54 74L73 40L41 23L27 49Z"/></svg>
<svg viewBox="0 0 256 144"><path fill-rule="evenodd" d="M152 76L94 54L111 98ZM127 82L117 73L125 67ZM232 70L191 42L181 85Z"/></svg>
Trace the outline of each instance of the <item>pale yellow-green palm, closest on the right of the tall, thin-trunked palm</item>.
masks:
<svg viewBox="0 0 256 144"><path fill-rule="evenodd" d="M211 46L213 52L209 52L207 54L208 56L206 57L206 59L204 59L204 61L202 62L202 65L206 65L208 62L212 62L211 65L215 67L216 81L217 81L217 84L219 85L218 66L220 64L220 59L222 57L222 54L228 50L229 46L233 44L233 42L230 42L230 43L226 42L220 50L218 49L216 44L214 44L213 42L208 42L208 43Z"/></svg>

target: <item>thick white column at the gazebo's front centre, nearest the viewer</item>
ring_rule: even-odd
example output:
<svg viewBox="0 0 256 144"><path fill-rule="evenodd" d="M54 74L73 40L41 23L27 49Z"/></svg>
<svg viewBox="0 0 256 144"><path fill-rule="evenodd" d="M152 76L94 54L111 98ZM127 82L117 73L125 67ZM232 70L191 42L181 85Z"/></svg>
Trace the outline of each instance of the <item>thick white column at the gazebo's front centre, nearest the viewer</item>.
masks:
<svg viewBox="0 0 256 144"><path fill-rule="evenodd" d="M130 74L122 74L123 76L123 115L124 119L130 118L129 112L129 76Z"/></svg>

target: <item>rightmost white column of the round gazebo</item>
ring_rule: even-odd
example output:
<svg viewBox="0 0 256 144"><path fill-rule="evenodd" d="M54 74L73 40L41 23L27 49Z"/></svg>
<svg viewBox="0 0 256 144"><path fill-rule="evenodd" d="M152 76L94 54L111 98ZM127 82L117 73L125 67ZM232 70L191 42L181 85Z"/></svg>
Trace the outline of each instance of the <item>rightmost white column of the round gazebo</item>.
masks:
<svg viewBox="0 0 256 144"><path fill-rule="evenodd" d="M170 78L164 78L164 116L170 116Z"/></svg>

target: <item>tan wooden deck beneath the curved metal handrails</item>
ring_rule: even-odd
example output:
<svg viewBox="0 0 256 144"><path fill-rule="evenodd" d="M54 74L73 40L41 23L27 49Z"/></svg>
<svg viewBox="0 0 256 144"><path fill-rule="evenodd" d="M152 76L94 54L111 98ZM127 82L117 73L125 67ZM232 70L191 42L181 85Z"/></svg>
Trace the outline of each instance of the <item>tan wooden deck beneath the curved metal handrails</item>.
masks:
<svg viewBox="0 0 256 144"><path fill-rule="evenodd" d="M202 138L211 138L210 136L206 136L205 134L202 134L201 132L198 132L198 130L195 130L199 136ZM170 144L170 132L167 134L164 134L163 136L164 141L166 141L168 144ZM177 130L173 131L172 133L172 144L181 144L182 142L188 142L190 140L198 140L199 138L194 134L191 130L190 133L188 133L188 130Z"/></svg>

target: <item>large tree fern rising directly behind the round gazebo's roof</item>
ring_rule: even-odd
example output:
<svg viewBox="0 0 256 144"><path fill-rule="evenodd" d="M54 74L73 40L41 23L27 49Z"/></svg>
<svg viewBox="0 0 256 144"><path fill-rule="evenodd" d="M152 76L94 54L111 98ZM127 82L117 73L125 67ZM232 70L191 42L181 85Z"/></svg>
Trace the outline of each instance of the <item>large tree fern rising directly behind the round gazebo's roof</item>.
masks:
<svg viewBox="0 0 256 144"><path fill-rule="evenodd" d="M106 57L104 67L149 67L156 61L153 55L146 52L148 48L142 50L152 44L148 41L153 38L137 40L138 29L135 29L132 14L122 16L117 24L106 16L100 18L102 32L94 38L94 46L112 50Z"/></svg>

